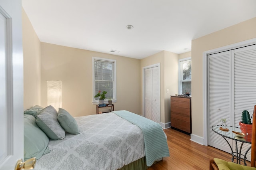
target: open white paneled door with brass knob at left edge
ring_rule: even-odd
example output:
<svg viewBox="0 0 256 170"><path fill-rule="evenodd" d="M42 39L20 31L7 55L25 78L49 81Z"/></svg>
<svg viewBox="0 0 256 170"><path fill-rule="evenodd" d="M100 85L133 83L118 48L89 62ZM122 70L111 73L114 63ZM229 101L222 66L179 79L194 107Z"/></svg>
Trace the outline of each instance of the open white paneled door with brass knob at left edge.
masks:
<svg viewBox="0 0 256 170"><path fill-rule="evenodd" d="M21 0L0 0L0 170L23 158Z"/></svg>

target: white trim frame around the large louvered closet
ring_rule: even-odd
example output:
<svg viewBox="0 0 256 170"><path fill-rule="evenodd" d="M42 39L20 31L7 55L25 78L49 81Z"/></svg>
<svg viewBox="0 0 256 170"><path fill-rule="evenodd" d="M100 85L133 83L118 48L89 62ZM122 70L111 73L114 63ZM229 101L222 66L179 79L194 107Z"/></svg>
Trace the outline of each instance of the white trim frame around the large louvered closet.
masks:
<svg viewBox="0 0 256 170"><path fill-rule="evenodd" d="M203 134L204 134L204 141L203 144L205 146L208 146L208 58L207 56L213 53L220 53L223 51L228 51L236 48L241 48L248 45L253 45L256 43L256 38L246 40L243 42L238 42L230 45L226 45L223 47L219 47L216 49L211 49L209 51L203 52L203 120L204 120L204 128L203 128Z"/></svg>

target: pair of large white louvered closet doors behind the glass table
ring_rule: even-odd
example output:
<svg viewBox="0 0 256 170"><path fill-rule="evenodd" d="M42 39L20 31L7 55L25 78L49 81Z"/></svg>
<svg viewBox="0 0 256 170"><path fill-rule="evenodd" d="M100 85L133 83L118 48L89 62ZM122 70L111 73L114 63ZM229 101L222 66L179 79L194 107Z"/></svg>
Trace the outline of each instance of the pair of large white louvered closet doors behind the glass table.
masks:
<svg viewBox="0 0 256 170"><path fill-rule="evenodd" d="M208 134L209 145L231 152L222 136L211 129L226 118L228 126L239 127L242 111L250 115L256 105L256 45L208 55ZM231 133L231 132L226 132ZM228 139L233 150L236 146ZM238 150L241 143L238 142ZM243 144L245 154L250 144ZM251 152L246 155L250 161Z"/></svg>

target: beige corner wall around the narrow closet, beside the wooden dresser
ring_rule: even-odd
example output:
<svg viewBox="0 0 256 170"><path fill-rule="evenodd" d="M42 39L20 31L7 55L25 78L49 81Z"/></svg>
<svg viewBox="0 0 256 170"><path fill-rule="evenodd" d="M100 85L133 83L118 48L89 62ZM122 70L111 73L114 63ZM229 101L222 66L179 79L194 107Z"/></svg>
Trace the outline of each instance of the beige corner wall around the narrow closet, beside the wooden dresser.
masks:
<svg viewBox="0 0 256 170"><path fill-rule="evenodd" d="M178 54L161 51L140 61L140 102L142 113L142 74L143 67L160 63L160 110L161 110L161 122L170 122L170 95L175 95L178 91ZM166 89L169 89L169 93L166 93Z"/></svg>

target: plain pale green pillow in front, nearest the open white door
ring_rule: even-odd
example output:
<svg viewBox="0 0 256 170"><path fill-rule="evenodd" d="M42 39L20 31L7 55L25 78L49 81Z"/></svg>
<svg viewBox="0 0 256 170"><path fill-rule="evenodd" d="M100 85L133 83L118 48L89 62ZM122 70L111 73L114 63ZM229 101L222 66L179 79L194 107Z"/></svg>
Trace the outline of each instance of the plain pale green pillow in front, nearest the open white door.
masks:
<svg viewBox="0 0 256 170"><path fill-rule="evenodd" d="M36 119L32 115L24 115L24 159L39 159L49 153L48 142L49 138L36 125Z"/></svg>

